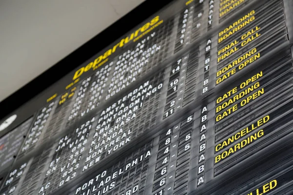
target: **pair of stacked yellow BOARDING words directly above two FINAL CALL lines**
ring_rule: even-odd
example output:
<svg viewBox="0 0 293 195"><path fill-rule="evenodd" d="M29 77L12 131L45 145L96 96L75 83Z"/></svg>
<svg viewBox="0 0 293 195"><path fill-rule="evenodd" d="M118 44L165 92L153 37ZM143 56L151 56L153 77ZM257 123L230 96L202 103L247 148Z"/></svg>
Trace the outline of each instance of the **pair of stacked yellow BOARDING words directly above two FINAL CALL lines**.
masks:
<svg viewBox="0 0 293 195"><path fill-rule="evenodd" d="M252 10L250 13L242 17L241 19L234 21L233 24L225 28L224 30L219 32L219 39L218 42L222 42L225 39L228 39L231 35L241 30L243 27L250 24L252 21L255 20L255 17L253 16L255 14L255 11Z"/></svg>

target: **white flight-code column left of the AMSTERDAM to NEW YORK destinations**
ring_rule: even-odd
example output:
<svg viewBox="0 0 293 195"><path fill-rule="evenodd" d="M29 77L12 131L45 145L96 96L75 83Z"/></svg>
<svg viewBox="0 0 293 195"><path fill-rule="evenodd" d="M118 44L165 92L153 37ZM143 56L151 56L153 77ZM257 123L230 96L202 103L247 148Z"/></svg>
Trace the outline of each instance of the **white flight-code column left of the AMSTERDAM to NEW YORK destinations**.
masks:
<svg viewBox="0 0 293 195"><path fill-rule="evenodd" d="M54 145L54 154L49 166L45 167L42 193L49 194L62 187L81 173L81 160L88 143L89 132L95 117L84 120L76 129L59 139ZM43 189L43 186L49 186Z"/></svg>

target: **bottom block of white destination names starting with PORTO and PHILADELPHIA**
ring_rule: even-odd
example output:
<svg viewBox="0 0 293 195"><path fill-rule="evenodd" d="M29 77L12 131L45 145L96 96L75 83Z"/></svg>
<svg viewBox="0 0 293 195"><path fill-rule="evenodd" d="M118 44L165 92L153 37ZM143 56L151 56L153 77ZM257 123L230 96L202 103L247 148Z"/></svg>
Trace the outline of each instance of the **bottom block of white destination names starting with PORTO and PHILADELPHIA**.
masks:
<svg viewBox="0 0 293 195"><path fill-rule="evenodd" d="M105 167L92 178L81 183L70 195L143 195L152 154L152 141L136 149L131 155ZM66 193L67 194L67 193Z"/></svg>

